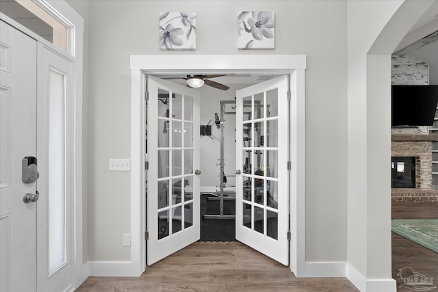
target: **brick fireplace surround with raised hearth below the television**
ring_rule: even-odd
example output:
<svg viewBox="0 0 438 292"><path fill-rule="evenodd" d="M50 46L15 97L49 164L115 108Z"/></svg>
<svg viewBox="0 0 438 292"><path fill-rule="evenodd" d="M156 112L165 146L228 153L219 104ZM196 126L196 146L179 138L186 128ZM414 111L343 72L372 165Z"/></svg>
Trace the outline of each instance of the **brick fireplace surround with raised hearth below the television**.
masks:
<svg viewBox="0 0 438 292"><path fill-rule="evenodd" d="M392 134L392 157L415 157L415 187L391 189L393 202L438 202L432 185L432 142L437 134Z"/></svg>

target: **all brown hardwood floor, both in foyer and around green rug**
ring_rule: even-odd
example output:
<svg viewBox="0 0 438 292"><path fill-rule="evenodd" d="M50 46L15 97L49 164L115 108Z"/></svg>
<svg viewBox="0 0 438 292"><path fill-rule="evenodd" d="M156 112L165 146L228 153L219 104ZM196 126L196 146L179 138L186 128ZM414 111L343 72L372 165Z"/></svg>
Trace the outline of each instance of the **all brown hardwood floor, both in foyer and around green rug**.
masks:
<svg viewBox="0 0 438 292"><path fill-rule="evenodd" d="M393 203L393 218L438 218L438 203ZM438 284L438 254L392 233L392 276L414 271ZM289 267L240 242L196 242L139 278L90 277L81 291L358 291L346 278L295 278ZM409 291L398 288L398 291Z"/></svg>

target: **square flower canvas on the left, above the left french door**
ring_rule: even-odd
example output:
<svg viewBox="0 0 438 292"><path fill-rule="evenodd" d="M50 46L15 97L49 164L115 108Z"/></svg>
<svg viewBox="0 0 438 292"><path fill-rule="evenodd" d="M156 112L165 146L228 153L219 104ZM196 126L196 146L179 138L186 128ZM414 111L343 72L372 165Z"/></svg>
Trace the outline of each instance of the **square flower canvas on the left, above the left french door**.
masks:
<svg viewBox="0 0 438 292"><path fill-rule="evenodd" d="M159 49L196 50L196 12L160 12Z"/></svg>

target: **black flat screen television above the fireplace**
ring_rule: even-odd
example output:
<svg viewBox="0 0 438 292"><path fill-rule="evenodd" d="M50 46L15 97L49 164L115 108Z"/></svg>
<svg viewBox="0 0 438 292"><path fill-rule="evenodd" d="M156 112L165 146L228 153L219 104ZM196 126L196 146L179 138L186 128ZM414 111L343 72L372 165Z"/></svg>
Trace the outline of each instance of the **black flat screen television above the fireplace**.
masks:
<svg viewBox="0 0 438 292"><path fill-rule="evenodd" d="M392 85L391 127L432 126L438 85Z"/></svg>

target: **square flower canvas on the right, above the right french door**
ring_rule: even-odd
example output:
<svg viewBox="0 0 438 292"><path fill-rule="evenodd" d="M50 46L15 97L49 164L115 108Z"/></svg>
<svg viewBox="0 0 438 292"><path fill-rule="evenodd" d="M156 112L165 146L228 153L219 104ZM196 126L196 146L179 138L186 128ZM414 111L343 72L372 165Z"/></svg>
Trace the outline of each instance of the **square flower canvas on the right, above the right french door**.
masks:
<svg viewBox="0 0 438 292"><path fill-rule="evenodd" d="M275 49L275 12L241 11L237 27L237 49Z"/></svg>

